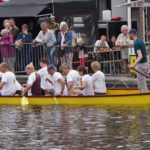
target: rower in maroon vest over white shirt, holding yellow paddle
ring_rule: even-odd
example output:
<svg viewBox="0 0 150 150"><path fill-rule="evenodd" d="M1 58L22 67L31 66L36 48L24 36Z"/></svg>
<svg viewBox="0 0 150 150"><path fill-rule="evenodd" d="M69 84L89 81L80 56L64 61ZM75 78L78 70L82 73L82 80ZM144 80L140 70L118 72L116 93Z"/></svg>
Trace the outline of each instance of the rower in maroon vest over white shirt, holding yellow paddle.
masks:
<svg viewBox="0 0 150 150"><path fill-rule="evenodd" d="M28 96L41 96L41 77L35 71L35 68L32 63L26 66L26 73L29 75L27 84L24 84L24 91L22 96L25 96L28 93Z"/></svg>

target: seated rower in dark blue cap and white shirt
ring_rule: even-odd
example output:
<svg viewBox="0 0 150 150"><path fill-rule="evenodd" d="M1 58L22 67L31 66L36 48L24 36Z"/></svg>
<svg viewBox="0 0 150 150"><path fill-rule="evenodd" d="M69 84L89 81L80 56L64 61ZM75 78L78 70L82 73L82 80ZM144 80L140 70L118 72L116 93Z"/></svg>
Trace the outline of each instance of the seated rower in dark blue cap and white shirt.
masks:
<svg viewBox="0 0 150 150"><path fill-rule="evenodd" d="M54 86L54 95L60 96L60 95L68 95L67 87L65 84L65 80L61 73L56 71L56 67L54 65L49 65L48 73L52 76L52 83Z"/></svg>

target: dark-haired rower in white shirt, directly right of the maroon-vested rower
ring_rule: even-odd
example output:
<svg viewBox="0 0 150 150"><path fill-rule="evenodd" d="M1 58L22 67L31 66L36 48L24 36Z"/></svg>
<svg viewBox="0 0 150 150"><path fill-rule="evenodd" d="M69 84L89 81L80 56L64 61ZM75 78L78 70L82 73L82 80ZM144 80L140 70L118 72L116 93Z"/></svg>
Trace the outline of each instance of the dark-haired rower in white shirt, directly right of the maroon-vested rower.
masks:
<svg viewBox="0 0 150 150"><path fill-rule="evenodd" d="M47 78L50 78L50 75L47 71L47 66L49 62L46 58L41 58L40 67L41 69L37 72L41 76L41 89L44 95L48 95L50 90L52 89L51 83L47 81Z"/></svg>

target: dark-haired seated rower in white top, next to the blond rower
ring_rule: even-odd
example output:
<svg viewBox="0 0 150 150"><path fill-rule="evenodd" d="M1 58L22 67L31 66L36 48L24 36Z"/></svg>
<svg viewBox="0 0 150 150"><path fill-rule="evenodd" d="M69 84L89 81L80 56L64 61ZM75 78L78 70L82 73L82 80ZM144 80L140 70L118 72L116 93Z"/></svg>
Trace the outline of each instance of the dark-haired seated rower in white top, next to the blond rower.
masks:
<svg viewBox="0 0 150 150"><path fill-rule="evenodd" d="M90 96L94 95L94 87L92 84L92 78L89 74L87 74L87 70L85 67L79 67L78 72L81 78L81 86L79 87L82 90L82 95Z"/></svg>

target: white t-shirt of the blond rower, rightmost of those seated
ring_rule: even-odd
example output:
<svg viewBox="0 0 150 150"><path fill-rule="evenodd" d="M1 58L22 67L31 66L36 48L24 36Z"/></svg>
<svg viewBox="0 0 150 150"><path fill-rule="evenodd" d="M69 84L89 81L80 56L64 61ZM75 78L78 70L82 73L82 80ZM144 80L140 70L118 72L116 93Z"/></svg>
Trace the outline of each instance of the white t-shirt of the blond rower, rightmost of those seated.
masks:
<svg viewBox="0 0 150 150"><path fill-rule="evenodd" d="M101 71L97 71L92 76L92 81L94 85L94 91L96 93L106 93L106 82L105 82L105 74Z"/></svg>

